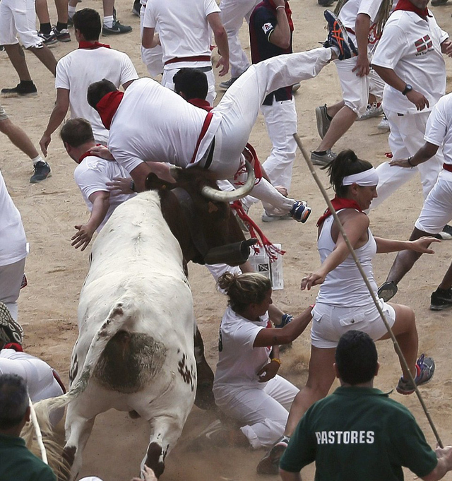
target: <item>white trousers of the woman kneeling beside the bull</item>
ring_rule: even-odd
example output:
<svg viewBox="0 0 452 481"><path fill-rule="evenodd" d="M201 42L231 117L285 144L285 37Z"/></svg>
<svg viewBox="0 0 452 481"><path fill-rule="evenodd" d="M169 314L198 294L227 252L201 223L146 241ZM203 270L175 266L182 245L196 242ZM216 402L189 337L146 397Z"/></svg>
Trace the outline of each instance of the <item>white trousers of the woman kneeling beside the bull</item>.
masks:
<svg viewBox="0 0 452 481"><path fill-rule="evenodd" d="M273 446L283 435L290 406L299 389L281 376L275 376L263 389L228 387L232 394L218 404L226 415L243 423L240 429L253 449Z"/></svg>

